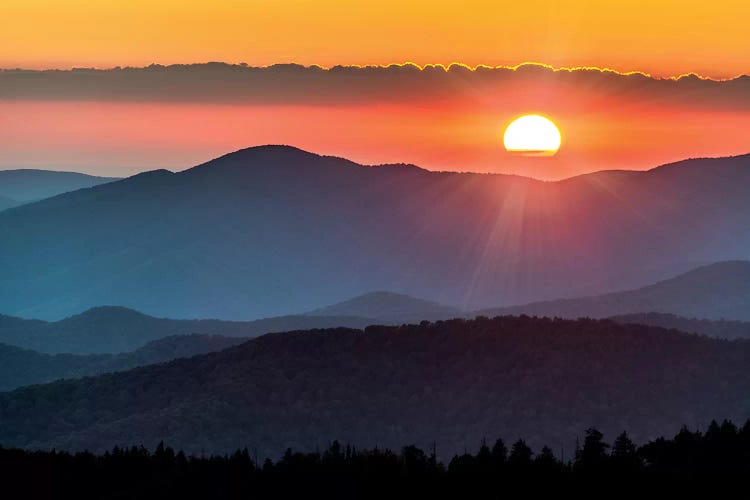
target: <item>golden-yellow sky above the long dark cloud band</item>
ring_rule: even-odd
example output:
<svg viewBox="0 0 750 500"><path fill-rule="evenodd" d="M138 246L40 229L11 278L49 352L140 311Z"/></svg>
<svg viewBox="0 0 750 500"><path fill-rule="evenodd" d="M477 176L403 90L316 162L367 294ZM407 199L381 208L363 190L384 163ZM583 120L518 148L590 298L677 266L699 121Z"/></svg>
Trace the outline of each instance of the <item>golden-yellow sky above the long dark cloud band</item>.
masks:
<svg viewBox="0 0 750 500"><path fill-rule="evenodd" d="M750 73L750 2L2 0L0 67L205 61Z"/></svg>

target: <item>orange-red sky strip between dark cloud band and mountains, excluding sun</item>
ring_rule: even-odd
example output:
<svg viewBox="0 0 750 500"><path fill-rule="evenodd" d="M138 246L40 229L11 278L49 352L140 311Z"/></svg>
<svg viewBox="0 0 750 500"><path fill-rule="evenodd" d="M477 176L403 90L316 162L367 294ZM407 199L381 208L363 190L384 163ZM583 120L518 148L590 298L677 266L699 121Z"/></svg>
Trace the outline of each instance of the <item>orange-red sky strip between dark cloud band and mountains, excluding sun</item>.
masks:
<svg viewBox="0 0 750 500"><path fill-rule="evenodd" d="M750 151L750 113L618 106L607 112L557 110L552 116L563 131L560 152L522 158L502 148L503 127L516 114L404 105L0 101L0 168L129 175L181 170L252 145L292 144L362 163L560 179Z"/></svg>

